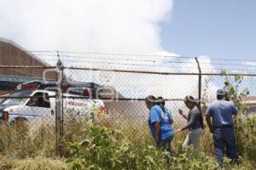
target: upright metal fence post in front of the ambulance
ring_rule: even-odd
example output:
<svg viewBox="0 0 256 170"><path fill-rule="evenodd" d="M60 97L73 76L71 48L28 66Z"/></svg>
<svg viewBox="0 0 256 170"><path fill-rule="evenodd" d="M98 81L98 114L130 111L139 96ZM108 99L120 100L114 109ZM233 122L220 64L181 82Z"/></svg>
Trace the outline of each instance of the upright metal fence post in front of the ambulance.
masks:
<svg viewBox="0 0 256 170"><path fill-rule="evenodd" d="M55 133L56 133L56 151L59 156L63 156L63 144L62 144L62 137L63 137L63 117L62 117L62 90L61 84L63 81L63 66L61 63L61 59L58 59L56 63L56 71L57 71L57 90L56 90L56 97L55 97Z"/></svg>

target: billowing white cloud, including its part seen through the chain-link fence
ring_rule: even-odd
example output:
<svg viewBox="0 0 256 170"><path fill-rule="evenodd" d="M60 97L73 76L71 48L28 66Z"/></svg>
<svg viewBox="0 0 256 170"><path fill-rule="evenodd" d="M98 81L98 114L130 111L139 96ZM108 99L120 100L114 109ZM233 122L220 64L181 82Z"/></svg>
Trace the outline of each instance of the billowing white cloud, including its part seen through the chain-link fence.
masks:
<svg viewBox="0 0 256 170"><path fill-rule="evenodd" d="M160 22L172 15L172 6L173 0L0 0L0 37L17 42L27 50L158 54L178 58L177 54L166 52L160 45ZM133 58L137 59L137 56ZM80 62L82 59L76 60ZM165 61L172 60L175 58L163 59L163 66L158 67L160 71L184 71L191 65L193 70L189 71L197 71L194 59L187 61L193 64L174 64L176 67L169 70L165 67ZM130 64L137 64L137 61ZM140 64L144 66L115 66L127 70L159 71L145 65L148 63ZM130 90L135 96L155 94L178 98L196 94L197 77L131 77L127 74L113 77L113 74L97 75L95 72L91 75L72 74L71 71L68 76L99 83L102 83L102 77L107 77L108 85L122 88L121 92L126 96L132 95ZM170 82L172 86L169 86Z"/></svg>

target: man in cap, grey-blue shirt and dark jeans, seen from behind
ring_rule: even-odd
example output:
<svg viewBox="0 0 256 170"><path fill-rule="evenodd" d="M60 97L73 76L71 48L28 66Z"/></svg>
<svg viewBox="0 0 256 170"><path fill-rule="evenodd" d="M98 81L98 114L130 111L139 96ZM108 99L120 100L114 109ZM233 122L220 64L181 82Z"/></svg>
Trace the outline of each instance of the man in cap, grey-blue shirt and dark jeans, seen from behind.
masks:
<svg viewBox="0 0 256 170"><path fill-rule="evenodd" d="M233 128L233 116L237 110L233 102L225 100L225 96L225 90L218 89L217 100L208 106L206 112L207 124L213 133L214 154L220 164L223 163L224 146L227 156L233 162L238 160Z"/></svg>

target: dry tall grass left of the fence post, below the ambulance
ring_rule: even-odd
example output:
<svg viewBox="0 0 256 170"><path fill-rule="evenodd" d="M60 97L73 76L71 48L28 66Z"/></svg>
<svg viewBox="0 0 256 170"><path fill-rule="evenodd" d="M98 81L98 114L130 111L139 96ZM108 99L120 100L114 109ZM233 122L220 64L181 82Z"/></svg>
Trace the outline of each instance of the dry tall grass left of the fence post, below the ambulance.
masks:
<svg viewBox="0 0 256 170"><path fill-rule="evenodd" d="M55 156L54 127L41 125L37 131L29 132L23 127L1 123L0 152L1 155L19 158Z"/></svg>

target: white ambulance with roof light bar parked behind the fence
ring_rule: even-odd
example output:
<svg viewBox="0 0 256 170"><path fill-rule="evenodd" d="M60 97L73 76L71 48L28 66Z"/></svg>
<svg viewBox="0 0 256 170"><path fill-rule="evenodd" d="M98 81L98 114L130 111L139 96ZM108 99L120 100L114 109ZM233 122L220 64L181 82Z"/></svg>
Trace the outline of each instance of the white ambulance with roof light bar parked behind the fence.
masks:
<svg viewBox="0 0 256 170"><path fill-rule="evenodd" d="M93 82L63 82L63 116L93 116L102 122L108 119L108 111L102 99L95 99L96 88ZM0 103L1 122L34 122L35 120L55 120L55 82L33 81L21 83L15 93ZM106 120L104 120L106 121Z"/></svg>

